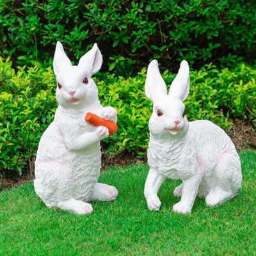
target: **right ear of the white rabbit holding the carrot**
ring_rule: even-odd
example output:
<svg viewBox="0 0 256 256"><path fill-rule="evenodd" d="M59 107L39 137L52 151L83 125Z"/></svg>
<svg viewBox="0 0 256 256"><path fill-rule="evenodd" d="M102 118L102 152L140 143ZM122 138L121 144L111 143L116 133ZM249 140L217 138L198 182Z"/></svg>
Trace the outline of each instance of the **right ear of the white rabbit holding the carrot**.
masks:
<svg viewBox="0 0 256 256"><path fill-rule="evenodd" d="M100 70L102 65L102 55L100 50L95 43L92 49L79 60L78 66L86 68L90 72L91 76Z"/></svg>

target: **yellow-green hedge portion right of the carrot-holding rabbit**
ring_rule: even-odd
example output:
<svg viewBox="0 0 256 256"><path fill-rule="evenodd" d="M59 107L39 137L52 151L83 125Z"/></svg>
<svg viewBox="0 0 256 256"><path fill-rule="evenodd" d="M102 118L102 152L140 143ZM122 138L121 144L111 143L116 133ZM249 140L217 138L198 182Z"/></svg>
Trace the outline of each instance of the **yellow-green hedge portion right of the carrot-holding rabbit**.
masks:
<svg viewBox="0 0 256 256"><path fill-rule="evenodd" d="M163 72L168 87L174 75ZM148 145L148 118L152 103L144 92L146 68L136 77L107 75L99 81L99 97L106 105L116 108L118 132L108 139L108 152L122 150L145 156ZM232 126L231 118L247 120L256 125L256 67L240 63L233 70L218 70L214 65L205 65L190 72L191 88L185 101L189 121L212 120L223 129Z"/></svg>

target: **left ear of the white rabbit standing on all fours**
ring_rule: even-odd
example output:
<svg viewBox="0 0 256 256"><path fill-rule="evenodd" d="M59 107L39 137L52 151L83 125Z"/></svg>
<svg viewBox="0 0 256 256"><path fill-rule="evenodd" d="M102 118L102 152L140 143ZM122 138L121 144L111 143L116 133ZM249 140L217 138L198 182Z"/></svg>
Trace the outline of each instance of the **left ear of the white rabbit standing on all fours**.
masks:
<svg viewBox="0 0 256 256"><path fill-rule="evenodd" d="M166 84L160 74L157 60L152 60L148 65L145 93L151 101L163 95L167 95Z"/></svg>

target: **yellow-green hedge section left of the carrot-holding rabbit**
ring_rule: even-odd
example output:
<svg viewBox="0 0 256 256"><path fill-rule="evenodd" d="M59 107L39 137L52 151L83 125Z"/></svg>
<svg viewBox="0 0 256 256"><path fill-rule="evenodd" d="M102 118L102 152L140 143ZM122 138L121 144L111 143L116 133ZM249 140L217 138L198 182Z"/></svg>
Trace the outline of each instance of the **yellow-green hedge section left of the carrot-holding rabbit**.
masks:
<svg viewBox="0 0 256 256"><path fill-rule="evenodd" d="M42 132L56 108L51 68L19 67L0 58L0 169L33 170Z"/></svg>

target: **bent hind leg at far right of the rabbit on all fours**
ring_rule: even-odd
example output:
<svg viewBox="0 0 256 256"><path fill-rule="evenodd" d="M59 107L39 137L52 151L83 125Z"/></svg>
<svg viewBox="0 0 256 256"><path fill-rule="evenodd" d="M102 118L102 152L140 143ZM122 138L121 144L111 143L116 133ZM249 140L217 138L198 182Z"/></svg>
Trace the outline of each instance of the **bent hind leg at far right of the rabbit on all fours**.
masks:
<svg viewBox="0 0 256 256"><path fill-rule="evenodd" d="M239 158L229 152L224 152L218 159L218 163L212 177L211 189L205 197L209 206L223 204L237 195L241 187L241 165Z"/></svg>

